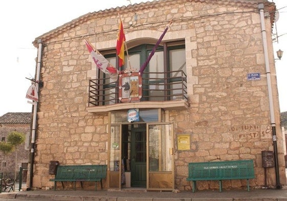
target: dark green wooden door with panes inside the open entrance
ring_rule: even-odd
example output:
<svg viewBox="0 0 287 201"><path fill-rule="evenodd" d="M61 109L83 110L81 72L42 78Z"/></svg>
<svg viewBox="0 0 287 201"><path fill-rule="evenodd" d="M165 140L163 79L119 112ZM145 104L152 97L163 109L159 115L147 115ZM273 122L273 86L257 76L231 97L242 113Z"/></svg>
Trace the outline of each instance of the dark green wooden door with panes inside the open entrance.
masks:
<svg viewBox="0 0 287 201"><path fill-rule="evenodd" d="M131 129L131 187L146 187L146 128Z"/></svg>

